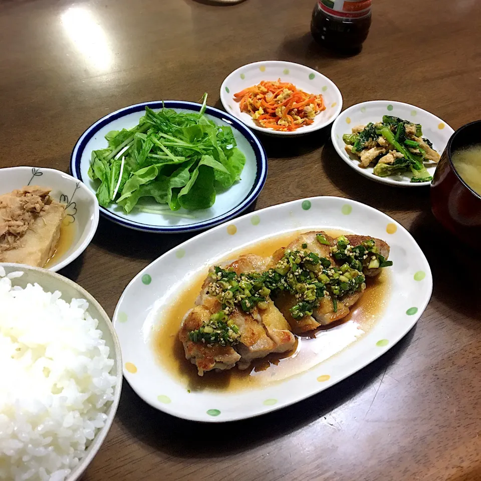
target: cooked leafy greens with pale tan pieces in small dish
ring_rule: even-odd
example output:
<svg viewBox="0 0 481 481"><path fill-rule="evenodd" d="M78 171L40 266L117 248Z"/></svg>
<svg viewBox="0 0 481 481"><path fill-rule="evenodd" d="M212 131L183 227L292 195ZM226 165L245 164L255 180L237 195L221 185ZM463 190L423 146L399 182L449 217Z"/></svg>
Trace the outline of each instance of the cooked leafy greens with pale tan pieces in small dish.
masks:
<svg viewBox="0 0 481 481"><path fill-rule="evenodd" d="M423 137L421 124L390 115L382 122L353 127L342 136L348 153L359 157L359 166L374 165L379 177L411 172L411 182L429 182L431 175L426 163L439 162L440 155Z"/></svg>

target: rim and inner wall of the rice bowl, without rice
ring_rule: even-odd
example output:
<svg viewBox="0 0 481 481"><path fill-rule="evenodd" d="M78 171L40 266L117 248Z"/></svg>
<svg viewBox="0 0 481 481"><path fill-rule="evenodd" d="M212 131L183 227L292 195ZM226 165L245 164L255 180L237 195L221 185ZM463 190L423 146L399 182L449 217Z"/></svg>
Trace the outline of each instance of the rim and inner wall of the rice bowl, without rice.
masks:
<svg viewBox="0 0 481 481"><path fill-rule="evenodd" d="M100 446L109 432L115 413L117 412L123 379L122 370L120 369L120 366L122 365L122 355L117 334L112 327L109 316L107 316L107 313L103 310L102 306L85 289L70 279L63 277L60 274L47 271L46 269L36 267L22 266L19 264L0 264L0 266L5 269L6 274L16 271L24 272L22 277L12 279L12 284L14 286L25 288L29 283L38 283L45 291L60 291L62 293L62 299L66 302L70 302L72 299L85 299L89 303L89 314L99 321L98 329L102 331L102 339L105 340L106 345L110 349L110 357L114 360L114 365L110 371L110 373L117 378L114 400L106 412L107 420L105 421L104 427L97 431L93 441L87 448L84 457L80 459L79 464L77 464L66 478L66 481L75 481L82 475L97 454L97 451L100 449Z"/></svg>

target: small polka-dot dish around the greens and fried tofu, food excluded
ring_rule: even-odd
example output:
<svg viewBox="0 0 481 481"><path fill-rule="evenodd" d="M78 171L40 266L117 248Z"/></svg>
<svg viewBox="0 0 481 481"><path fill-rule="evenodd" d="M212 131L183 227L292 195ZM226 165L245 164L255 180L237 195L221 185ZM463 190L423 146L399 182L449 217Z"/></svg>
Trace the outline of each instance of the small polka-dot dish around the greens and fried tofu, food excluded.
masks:
<svg viewBox="0 0 481 481"><path fill-rule="evenodd" d="M419 107L403 102L393 102L391 100L372 100L349 107L344 110L332 124L331 139L337 153L349 167L361 175L364 175L364 177L376 182L395 185L397 187L422 187L430 185L431 182L411 182L409 172L391 175L389 177L379 177L373 174L374 167L371 166L366 169L359 167L359 160L346 152L342 136L344 134L350 134L352 127L356 125L366 125L369 122L375 123L382 121L383 115L393 115L416 124L421 124L423 137L427 137L432 142L434 150L439 152L439 154L442 154L447 145L447 141L454 133L454 130L443 120ZM435 170L435 165L427 167L427 171L431 176L434 175Z"/></svg>

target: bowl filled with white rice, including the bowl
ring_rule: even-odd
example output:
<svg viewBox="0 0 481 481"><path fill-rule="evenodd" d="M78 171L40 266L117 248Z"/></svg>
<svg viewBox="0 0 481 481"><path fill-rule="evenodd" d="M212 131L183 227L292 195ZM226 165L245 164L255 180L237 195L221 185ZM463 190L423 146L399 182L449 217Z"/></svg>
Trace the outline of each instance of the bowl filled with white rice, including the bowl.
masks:
<svg viewBox="0 0 481 481"><path fill-rule="evenodd" d="M110 319L69 279L18 264L0 264L0 312L0 480L74 481L120 399Z"/></svg>

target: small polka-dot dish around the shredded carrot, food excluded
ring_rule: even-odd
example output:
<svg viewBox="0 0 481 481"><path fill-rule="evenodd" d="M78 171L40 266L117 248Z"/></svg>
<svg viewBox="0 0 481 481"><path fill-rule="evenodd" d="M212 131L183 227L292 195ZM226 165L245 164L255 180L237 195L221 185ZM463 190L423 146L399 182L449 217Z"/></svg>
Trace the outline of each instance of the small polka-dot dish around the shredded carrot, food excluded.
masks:
<svg viewBox="0 0 481 481"><path fill-rule="evenodd" d="M313 124L293 132L281 132L258 126L249 114L240 111L239 103L234 100L233 94L257 85L263 80L277 79L281 79L282 82L291 82L305 92L322 94L326 110L316 115ZM249 128L269 135L304 135L314 132L329 125L342 110L342 95L332 80L305 65L278 60L255 62L234 70L222 82L220 101L226 112L237 117Z"/></svg>

